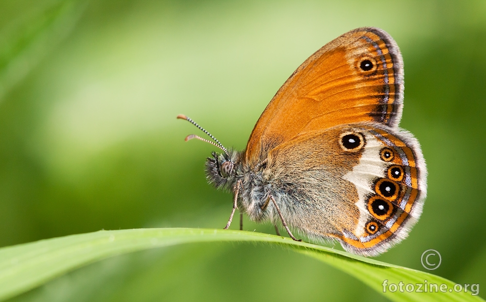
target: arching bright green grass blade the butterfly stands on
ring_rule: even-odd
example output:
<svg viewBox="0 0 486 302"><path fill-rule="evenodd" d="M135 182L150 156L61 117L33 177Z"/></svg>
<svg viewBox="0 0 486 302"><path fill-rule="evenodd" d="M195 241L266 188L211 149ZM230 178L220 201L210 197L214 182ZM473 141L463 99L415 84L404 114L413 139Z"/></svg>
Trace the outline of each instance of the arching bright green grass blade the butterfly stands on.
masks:
<svg viewBox="0 0 486 302"><path fill-rule="evenodd" d="M70 235L0 249L0 300L42 285L52 278L104 258L157 247L211 241L252 241L285 246L338 268L392 301L484 301L468 292L385 292L388 284L454 283L430 273L367 259L276 235L214 229L135 229Z"/></svg>

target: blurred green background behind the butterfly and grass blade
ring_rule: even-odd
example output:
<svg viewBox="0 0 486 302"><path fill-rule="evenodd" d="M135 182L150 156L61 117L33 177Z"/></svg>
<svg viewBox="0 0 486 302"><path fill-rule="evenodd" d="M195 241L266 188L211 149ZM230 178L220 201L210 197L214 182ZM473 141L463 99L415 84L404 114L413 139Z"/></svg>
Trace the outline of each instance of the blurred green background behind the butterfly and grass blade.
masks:
<svg viewBox="0 0 486 302"><path fill-rule="evenodd" d="M215 148L185 143L197 129L176 115L243 149L295 68L360 26L381 27L402 51L400 125L429 168L420 221L378 259L425 270L420 255L434 249L435 274L486 286L484 0L0 0L0 246L100 229L222 228L231 195L203 171ZM114 257L12 301L324 299L385 301L303 255L214 243Z"/></svg>

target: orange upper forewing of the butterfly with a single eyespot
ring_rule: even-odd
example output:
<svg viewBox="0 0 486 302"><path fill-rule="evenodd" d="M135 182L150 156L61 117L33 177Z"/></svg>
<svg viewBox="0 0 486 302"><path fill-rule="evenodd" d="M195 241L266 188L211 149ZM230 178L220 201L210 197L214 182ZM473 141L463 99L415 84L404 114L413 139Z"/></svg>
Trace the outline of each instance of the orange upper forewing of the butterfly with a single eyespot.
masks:
<svg viewBox="0 0 486 302"><path fill-rule="evenodd" d="M397 126L403 67L393 38L358 28L317 50L280 87L248 140L245 159L257 165L270 149L298 135L357 122Z"/></svg>

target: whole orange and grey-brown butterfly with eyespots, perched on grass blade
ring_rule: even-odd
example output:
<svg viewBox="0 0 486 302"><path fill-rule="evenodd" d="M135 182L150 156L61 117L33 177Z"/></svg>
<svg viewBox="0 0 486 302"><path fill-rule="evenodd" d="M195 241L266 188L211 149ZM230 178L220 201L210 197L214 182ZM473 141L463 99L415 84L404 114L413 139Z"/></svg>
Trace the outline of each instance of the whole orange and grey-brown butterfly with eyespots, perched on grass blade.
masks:
<svg viewBox="0 0 486 302"><path fill-rule="evenodd" d="M206 161L208 182L234 194L252 220L376 256L404 239L422 212L427 169L417 139L398 127L403 63L379 28L347 32L312 54L280 87L244 151ZM242 215L242 214L241 214ZM276 226L278 232L278 228Z"/></svg>

